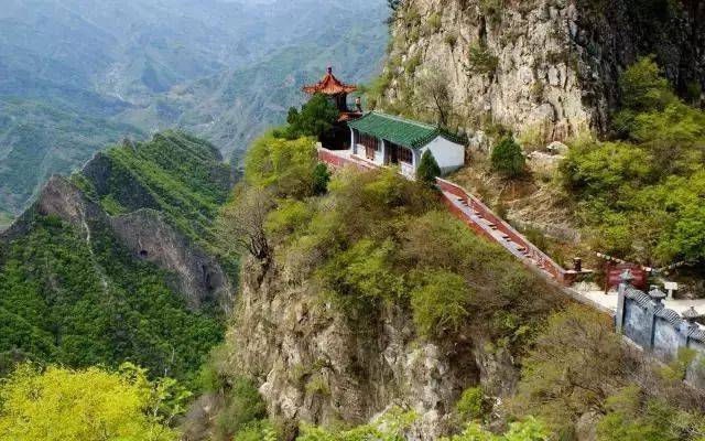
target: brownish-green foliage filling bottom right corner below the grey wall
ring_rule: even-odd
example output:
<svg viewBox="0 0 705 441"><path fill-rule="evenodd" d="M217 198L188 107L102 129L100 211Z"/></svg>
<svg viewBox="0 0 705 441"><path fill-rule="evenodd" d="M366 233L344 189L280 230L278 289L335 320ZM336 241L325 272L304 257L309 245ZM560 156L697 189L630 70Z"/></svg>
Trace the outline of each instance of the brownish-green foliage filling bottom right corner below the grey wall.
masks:
<svg viewBox="0 0 705 441"><path fill-rule="evenodd" d="M664 369L644 365L609 318L574 305L536 338L511 407L541 418L558 439L572 439L581 416L598 410L600 441L699 441L705 417L702 395L683 384L687 355Z"/></svg>

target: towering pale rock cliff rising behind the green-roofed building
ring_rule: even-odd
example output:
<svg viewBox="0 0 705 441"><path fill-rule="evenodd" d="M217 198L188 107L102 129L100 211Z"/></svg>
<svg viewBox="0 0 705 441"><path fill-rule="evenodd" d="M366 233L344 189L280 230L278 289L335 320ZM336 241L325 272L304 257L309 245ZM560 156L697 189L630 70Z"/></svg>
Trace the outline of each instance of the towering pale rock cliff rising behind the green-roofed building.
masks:
<svg viewBox="0 0 705 441"><path fill-rule="evenodd" d="M382 107L415 105L424 71L448 86L456 122L499 122L562 140L605 131L619 73L655 54L691 95L705 85L705 4L696 0L409 0L391 25Z"/></svg>

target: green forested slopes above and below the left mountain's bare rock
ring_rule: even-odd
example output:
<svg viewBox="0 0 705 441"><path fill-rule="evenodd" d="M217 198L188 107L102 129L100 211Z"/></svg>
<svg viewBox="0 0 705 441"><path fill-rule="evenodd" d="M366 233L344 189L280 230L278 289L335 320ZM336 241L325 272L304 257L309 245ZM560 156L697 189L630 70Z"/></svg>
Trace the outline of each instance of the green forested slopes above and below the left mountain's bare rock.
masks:
<svg viewBox="0 0 705 441"><path fill-rule="evenodd" d="M109 149L73 182L107 212L156 209L206 239L229 189L219 158L205 141L166 132ZM23 358L72 367L130 361L154 376L189 379L220 340L217 311L188 309L188 293L128 249L106 219L87 218L85 235L31 209L24 234L0 238L0 372Z"/></svg>

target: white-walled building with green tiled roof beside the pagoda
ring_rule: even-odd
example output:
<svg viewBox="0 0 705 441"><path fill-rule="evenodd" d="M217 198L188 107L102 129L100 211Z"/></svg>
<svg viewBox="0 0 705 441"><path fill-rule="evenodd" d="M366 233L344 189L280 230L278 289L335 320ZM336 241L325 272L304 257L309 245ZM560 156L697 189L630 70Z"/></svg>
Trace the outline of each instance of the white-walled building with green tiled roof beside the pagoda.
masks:
<svg viewBox="0 0 705 441"><path fill-rule="evenodd" d="M435 126L378 111L348 121L351 154L376 165L399 165L413 178L421 157L431 151L441 171L449 173L465 164L465 146Z"/></svg>

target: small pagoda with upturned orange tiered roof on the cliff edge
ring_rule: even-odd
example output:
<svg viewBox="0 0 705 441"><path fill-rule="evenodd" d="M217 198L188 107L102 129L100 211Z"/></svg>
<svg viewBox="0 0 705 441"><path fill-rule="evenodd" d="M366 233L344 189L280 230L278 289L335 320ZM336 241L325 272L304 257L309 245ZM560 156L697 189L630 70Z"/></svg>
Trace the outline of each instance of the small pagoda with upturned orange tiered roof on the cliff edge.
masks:
<svg viewBox="0 0 705 441"><path fill-rule="evenodd" d="M328 67L327 74L316 84L307 85L302 88L308 95L323 94L330 99L340 111L338 122L333 128L333 139L330 139L327 148L332 150L347 150L349 146L349 136L346 121L354 120L362 116L362 107L359 98L355 101L355 107L348 107L348 94L357 90L357 86L345 84L333 75L333 67Z"/></svg>

